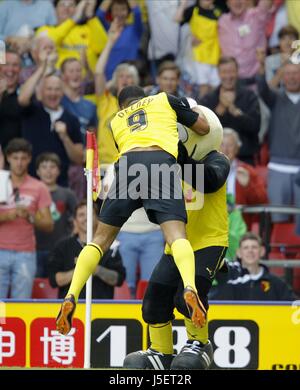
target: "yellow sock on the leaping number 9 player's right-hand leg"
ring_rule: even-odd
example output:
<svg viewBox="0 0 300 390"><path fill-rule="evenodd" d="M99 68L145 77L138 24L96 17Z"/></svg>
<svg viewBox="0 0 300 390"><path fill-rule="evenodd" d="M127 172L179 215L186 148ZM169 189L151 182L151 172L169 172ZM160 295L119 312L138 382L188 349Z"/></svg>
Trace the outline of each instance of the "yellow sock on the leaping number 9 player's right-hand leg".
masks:
<svg viewBox="0 0 300 390"><path fill-rule="evenodd" d="M195 286L195 256L190 242L185 238L180 238L173 242L171 251L183 280L183 286L191 286L197 291Z"/></svg>

